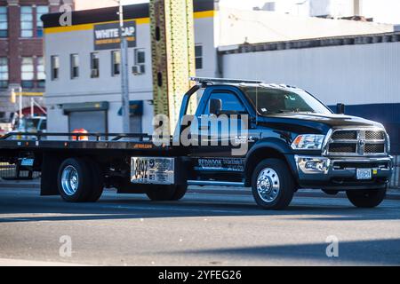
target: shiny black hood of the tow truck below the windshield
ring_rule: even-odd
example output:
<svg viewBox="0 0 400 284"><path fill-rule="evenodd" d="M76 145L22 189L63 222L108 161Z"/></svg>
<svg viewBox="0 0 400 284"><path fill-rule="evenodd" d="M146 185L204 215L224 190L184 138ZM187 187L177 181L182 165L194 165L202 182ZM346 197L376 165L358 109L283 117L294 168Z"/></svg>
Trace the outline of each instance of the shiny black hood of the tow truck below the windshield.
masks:
<svg viewBox="0 0 400 284"><path fill-rule="evenodd" d="M331 128L346 127L379 127L379 122L372 122L361 117L346 114L311 114L311 113L283 113L272 115L261 115L260 124L269 127L287 130L298 130L299 133L314 130L316 133L326 133Z"/></svg>

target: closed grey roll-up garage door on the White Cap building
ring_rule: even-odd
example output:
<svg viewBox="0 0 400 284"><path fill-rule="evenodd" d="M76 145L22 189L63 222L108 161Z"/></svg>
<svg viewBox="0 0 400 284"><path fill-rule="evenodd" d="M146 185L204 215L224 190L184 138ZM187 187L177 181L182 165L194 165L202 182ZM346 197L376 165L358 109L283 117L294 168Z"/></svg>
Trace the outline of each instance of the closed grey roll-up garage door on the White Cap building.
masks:
<svg viewBox="0 0 400 284"><path fill-rule="evenodd" d="M69 131L84 129L90 133L107 133L105 111L69 113Z"/></svg>

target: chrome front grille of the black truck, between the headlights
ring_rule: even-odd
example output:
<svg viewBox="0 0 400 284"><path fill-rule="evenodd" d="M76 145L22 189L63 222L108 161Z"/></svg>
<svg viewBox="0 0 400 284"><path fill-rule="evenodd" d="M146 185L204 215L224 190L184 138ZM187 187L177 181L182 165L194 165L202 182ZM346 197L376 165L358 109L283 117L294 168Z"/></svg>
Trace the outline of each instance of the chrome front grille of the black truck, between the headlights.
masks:
<svg viewBox="0 0 400 284"><path fill-rule="evenodd" d="M326 154L386 154L386 133L383 130L333 130L326 145Z"/></svg>

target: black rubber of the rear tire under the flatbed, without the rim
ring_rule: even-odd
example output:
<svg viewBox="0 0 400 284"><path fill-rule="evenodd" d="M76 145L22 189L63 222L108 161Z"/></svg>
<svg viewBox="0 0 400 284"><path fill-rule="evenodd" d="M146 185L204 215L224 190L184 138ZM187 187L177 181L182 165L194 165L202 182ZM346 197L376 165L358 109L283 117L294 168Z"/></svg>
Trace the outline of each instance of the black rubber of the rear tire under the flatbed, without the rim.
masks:
<svg viewBox="0 0 400 284"><path fill-rule="evenodd" d="M63 186L62 179L64 170L76 170L77 188L75 193L68 192L66 186ZM67 171L67 170L66 170ZM61 163L59 174L57 177L59 193L64 201L68 202L84 202L91 195L92 172L87 162L80 158L69 158Z"/></svg>

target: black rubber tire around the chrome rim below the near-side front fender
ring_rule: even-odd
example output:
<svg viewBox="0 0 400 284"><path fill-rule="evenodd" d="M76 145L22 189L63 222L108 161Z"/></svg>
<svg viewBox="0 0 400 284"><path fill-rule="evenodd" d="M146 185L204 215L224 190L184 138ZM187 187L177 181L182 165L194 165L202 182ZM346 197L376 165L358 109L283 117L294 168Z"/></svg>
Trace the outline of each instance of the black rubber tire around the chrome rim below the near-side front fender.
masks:
<svg viewBox="0 0 400 284"><path fill-rule="evenodd" d="M271 178L276 178L276 174L278 178L278 180L272 180L271 178L268 179L269 185L274 184L277 186L276 188L278 188L275 191L275 197L271 198L270 201L267 201L267 197L265 196L261 197L261 193L259 193L257 189L257 179L261 171L266 169L272 169L275 171L275 173L273 171L271 172ZM287 208L292 201L296 189L295 187L291 171L288 169L286 163L279 159L266 159L261 161L252 173L252 196L262 209ZM268 186L268 188L269 190L267 191L269 193L274 191L274 188L271 188L270 186Z"/></svg>

